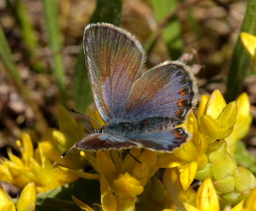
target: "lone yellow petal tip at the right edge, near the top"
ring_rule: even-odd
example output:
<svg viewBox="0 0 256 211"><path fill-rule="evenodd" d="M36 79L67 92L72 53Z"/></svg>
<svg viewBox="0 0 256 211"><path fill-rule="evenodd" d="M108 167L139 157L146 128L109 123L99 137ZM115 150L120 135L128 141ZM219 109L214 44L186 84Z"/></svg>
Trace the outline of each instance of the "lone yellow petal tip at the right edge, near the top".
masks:
<svg viewBox="0 0 256 211"><path fill-rule="evenodd" d="M256 58L256 37L252 34L246 32L241 33L241 41L244 44L245 49L249 55L255 59Z"/></svg>

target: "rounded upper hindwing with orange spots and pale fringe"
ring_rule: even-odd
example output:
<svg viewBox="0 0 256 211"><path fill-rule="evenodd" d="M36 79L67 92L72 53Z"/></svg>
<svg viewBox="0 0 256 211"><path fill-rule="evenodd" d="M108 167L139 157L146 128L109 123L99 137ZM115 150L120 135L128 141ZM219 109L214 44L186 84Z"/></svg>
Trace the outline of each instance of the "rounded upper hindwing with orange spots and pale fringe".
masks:
<svg viewBox="0 0 256 211"><path fill-rule="evenodd" d="M132 85L124 119L166 117L182 122L197 103L197 85L180 61L166 61L148 70Z"/></svg>

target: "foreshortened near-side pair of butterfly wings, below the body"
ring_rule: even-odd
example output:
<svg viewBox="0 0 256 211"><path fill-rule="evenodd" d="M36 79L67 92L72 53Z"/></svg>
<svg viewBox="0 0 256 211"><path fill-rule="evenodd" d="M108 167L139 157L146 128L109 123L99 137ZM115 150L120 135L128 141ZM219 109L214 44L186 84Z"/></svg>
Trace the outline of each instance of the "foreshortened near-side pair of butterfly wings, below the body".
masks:
<svg viewBox="0 0 256 211"><path fill-rule="evenodd" d="M183 128L170 131L133 135L129 138L112 134L91 134L75 144L78 150L124 150L131 147L144 147L149 150L171 151L180 146L188 135Z"/></svg>

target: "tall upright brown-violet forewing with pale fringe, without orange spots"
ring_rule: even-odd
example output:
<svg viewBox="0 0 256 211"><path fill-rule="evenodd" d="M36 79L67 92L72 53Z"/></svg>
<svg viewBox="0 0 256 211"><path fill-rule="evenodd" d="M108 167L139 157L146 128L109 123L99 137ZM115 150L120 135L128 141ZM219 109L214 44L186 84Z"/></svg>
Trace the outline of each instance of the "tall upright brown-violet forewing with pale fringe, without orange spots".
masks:
<svg viewBox="0 0 256 211"><path fill-rule="evenodd" d="M134 36L108 23L84 32L84 52L94 101L105 122L120 118L143 64L144 50Z"/></svg>

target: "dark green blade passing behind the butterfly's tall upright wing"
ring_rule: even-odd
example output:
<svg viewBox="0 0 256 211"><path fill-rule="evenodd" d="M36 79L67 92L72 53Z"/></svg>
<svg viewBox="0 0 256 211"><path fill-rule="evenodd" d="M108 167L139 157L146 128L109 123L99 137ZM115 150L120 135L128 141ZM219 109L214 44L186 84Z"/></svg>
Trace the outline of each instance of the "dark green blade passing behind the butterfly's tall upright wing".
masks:
<svg viewBox="0 0 256 211"><path fill-rule="evenodd" d="M118 26L121 24L121 0L98 0L91 23L105 22ZM78 56L78 63L73 77L75 109L86 112L92 102L91 87L86 69L83 49Z"/></svg>

